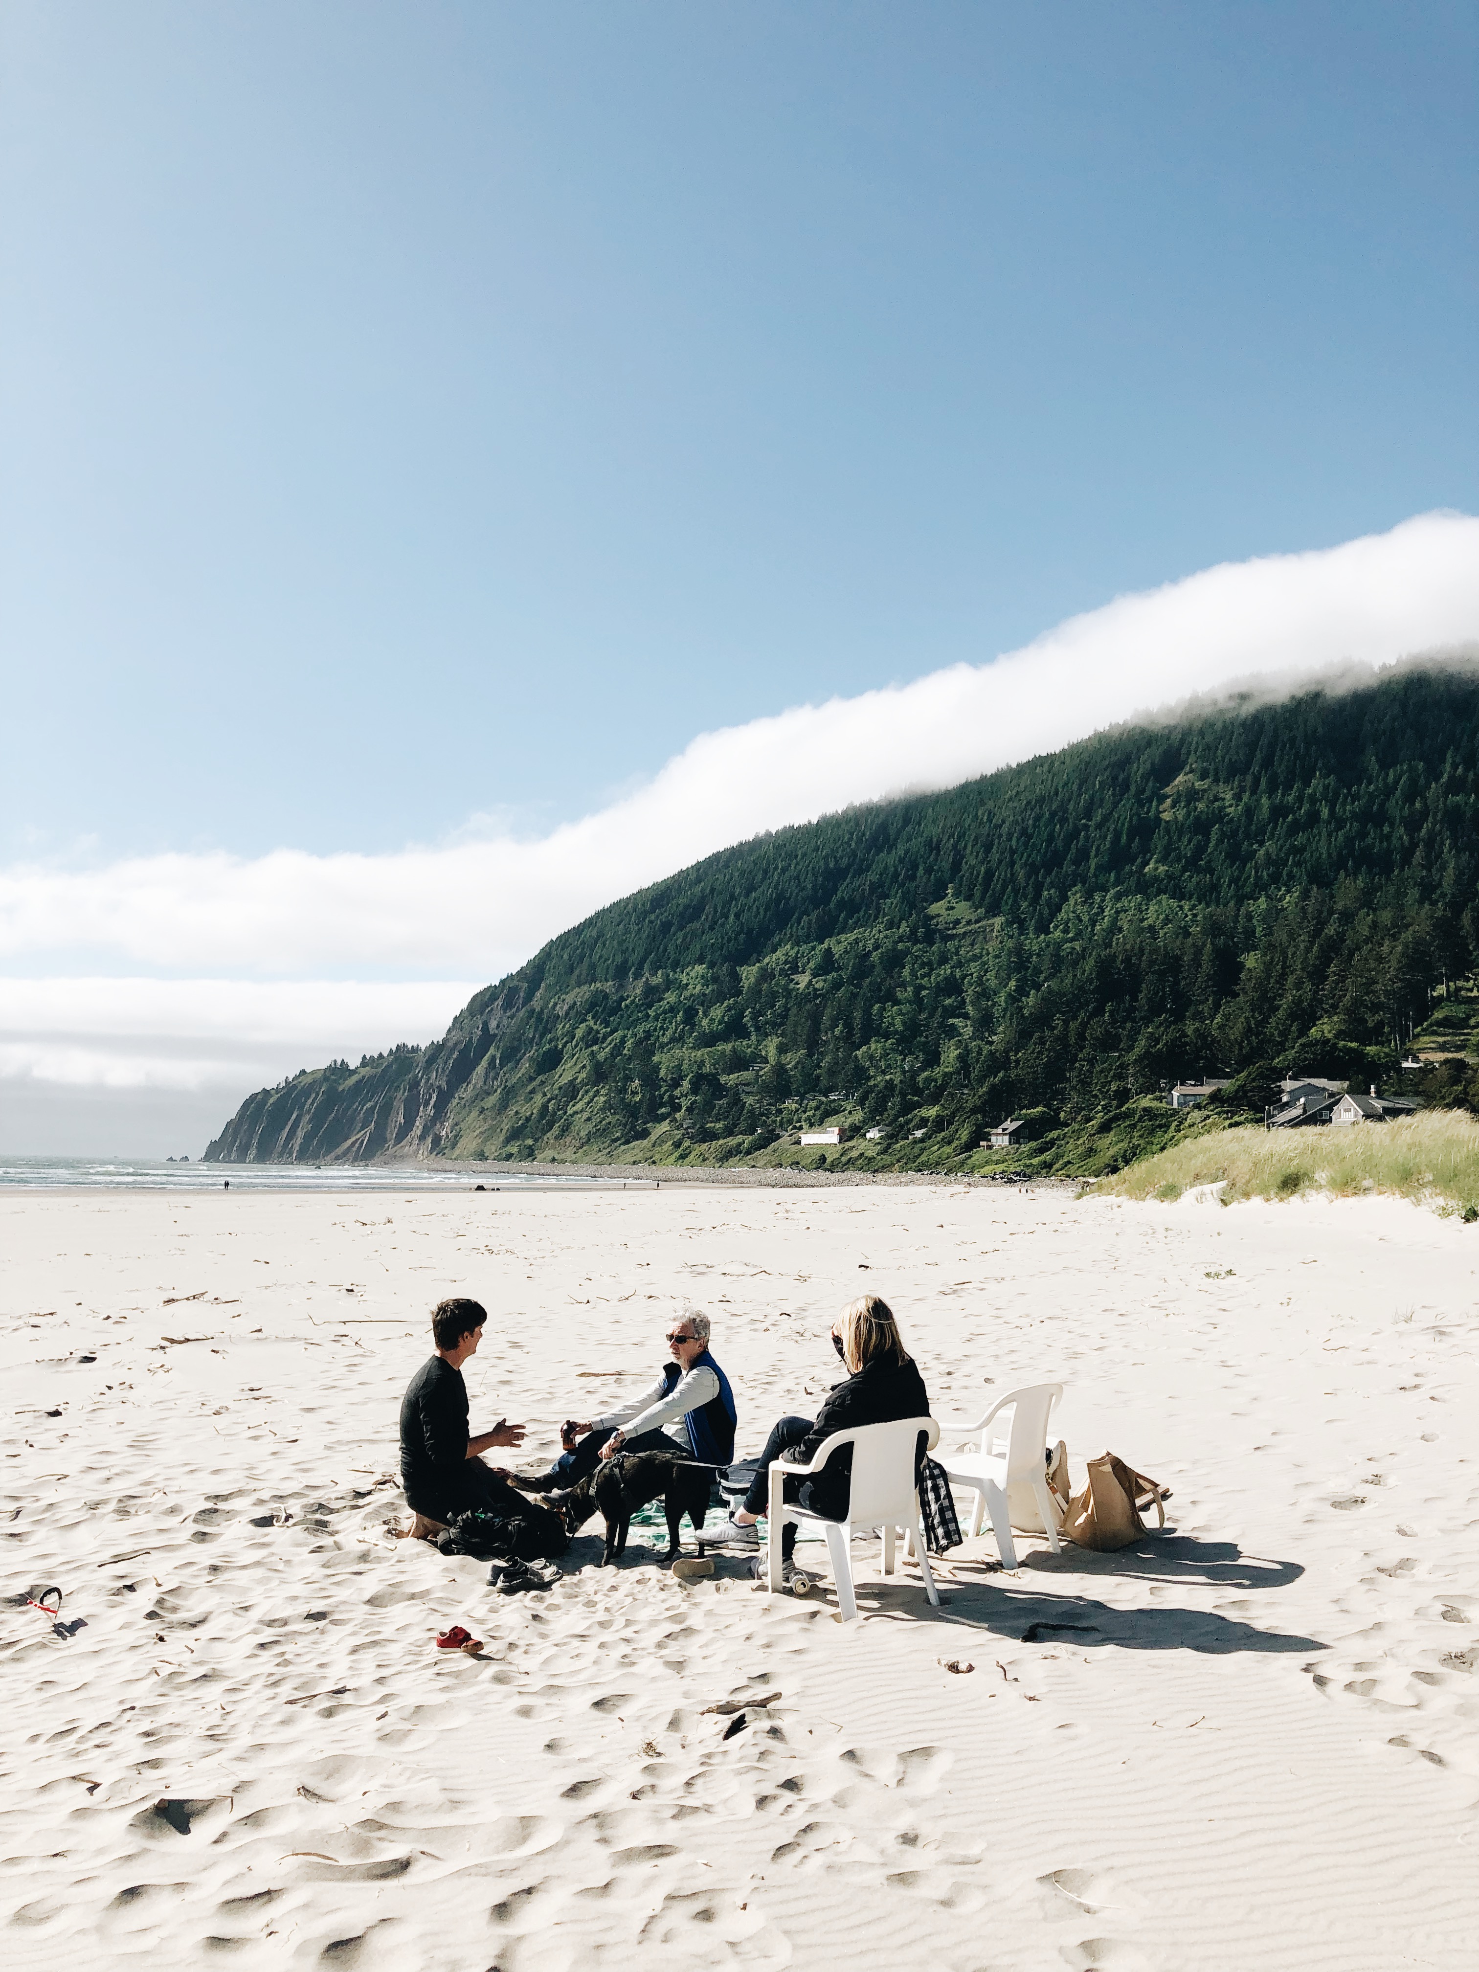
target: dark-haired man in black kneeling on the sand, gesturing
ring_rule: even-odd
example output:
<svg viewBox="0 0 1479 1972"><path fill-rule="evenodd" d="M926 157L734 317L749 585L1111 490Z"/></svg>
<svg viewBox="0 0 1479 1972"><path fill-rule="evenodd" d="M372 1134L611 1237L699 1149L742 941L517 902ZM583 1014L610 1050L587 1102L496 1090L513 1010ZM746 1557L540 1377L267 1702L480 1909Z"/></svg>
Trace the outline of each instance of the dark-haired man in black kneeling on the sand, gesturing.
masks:
<svg viewBox="0 0 1479 1972"><path fill-rule="evenodd" d="M477 1302L438 1302L432 1309L436 1355L422 1363L400 1400L400 1483L416 1514L412 1534L436 1532L475 1507L489 1513L527 1507L525 1497L479 1457L491 1445L521 1445L525 1426L499 1418L491 1432L467 1436L461 1365L477 1353L485 1321L487 1309Z"/></svg>

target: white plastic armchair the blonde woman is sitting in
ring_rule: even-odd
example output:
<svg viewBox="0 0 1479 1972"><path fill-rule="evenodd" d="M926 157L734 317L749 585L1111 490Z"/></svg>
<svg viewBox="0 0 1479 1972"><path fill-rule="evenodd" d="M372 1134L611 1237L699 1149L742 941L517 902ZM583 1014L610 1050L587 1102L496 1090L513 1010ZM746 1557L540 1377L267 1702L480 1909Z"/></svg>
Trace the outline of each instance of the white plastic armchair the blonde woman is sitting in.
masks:
<svg viewBox="0 0 1479 1972"><path fill-rule="evenodd" d="M799 1524L810 1520L826 1534L842 1621L852 1623L858 1617L858 1597L852 1591L854 1526L876 1526L881 1532L885 1576L893 1574L895 1528L903 1528L905 1554L913 1548L929 1599L939 1609L941 1595L935 1587L935 1576L929 1572L925 1534L919 1524L919 1493L915 1491L915 1445L921 1432L925 1434L927 1447L933 1449L941 1436L941 1428L933 1418L897 1418L891 1424L860 1424L852 1432L832 1432L830 1438L822 1440L810 1465L787 1465L781 1459L771 1463L771 1511L765 1522L765 1560L771 1593L785 1585L781 1576L781 1530L785 1522L795 1520ZM787 1479L814 1477L842 1445L852 1445L848 1518L828 1520L807 1507L793 1507L785 1499ZM1041 1451L1037 1457L1041 1459Z"/></svg>

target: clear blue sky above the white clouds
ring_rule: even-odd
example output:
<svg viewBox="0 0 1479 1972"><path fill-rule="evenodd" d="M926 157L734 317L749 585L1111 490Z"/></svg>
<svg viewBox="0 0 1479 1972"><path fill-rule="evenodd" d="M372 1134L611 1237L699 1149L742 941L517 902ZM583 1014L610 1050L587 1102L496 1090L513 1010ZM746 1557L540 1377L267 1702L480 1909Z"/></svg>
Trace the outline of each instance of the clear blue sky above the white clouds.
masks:
<svg viewBox="0 0 1479 1972"><path fill-rule="evenodd" d="M1479 507L1467 6L12 4L0 850L385 852Z"/></svg>

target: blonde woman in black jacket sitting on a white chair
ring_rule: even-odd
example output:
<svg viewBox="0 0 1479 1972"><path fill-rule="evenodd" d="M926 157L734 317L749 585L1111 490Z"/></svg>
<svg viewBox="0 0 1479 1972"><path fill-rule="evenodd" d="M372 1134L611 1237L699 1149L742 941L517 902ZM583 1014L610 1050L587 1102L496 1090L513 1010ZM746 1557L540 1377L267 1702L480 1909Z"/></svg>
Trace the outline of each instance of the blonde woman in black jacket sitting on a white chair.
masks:
<svg viewBox="0 0 1479 1972"><path fill-rule="evenodd" d="M783 1465L810 1465L832 1432L850 1432L860 1424L891 1424L895 1418L927 1418L929 1392L913 1357L903 1347L893 1309L878 1294L850 1302L832 1323L832 1347L842 1357L848 1374L834 1384L816 1420L781 1418L755 1467L755 1479L732 1520L704 1528L706 1548L755 1554L759 1534L755 1520L769 1505L769 1469L773 1459ZM842 1445L810 1479L789 1479L787 1499L824 1514L846 1520L852 1487L852 1445ZM789 1520L781 1534L781 1554L787 1576L791 1550L797 1544L797 1522Z"/></svg>

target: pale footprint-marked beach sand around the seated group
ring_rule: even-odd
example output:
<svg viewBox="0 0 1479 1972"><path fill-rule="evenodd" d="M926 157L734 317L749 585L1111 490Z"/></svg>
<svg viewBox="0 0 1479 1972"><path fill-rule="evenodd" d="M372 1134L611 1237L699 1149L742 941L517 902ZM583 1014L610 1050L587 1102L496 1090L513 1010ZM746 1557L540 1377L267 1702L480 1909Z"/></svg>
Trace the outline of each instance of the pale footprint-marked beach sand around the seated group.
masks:
<svg viewBox="0 0 1479 1972"><path fill-rule="evenodd" d="M1479 1229L663 1189L28 1195L0 1238L0 1587L85 1623L0 1621L10 1966L1479 1964ZM860 1548L846 1627L637 1532L599 1570L599 1522L542 1597L385 1538L440 1296L493 1313L473 1426L546 1451L692 1298L757 1449L860 1288L937 1416L1063 1376L1075 1481L1120 1451L1175 1532L972 1542L945 1617Z"/></svg>

